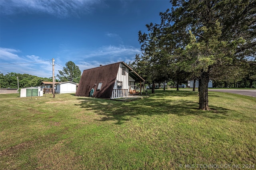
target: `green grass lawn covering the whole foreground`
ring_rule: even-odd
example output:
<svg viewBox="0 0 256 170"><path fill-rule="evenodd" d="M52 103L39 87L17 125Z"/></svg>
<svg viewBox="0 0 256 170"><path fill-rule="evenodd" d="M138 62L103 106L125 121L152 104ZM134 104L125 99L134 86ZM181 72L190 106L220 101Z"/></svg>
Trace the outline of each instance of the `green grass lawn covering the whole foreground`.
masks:
<svg viewBox="0 0 256 170"><path fill-rule="evenodd" d="M256 98L156 90L132 102L58 94L0 95L2 169L256 168ZM0 169L1 169L0 168Z"/></svg>

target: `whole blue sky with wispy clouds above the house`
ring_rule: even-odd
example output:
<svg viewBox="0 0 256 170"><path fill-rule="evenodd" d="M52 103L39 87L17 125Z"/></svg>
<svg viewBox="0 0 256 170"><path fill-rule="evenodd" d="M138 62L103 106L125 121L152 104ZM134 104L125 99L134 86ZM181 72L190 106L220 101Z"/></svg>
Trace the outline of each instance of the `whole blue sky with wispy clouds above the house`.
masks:
<svg viewBox="0 0 256 170"><path fill-rule="evenodd" d="M168 8L169 0L0 0L0 72L49 78L52 58L55 76L68 61L81 71L129 63L141 53L138 31Z"/></svg>

